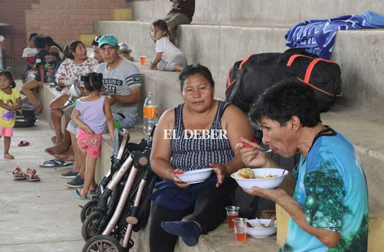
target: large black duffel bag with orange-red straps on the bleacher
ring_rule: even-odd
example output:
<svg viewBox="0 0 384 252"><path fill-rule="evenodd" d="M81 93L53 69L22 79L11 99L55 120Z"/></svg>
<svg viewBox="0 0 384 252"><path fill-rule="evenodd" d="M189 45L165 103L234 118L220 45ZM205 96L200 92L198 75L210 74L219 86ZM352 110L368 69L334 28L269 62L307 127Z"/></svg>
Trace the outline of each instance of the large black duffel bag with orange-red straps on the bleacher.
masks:
<svg viewBox="0 0 384 252"><path fill-rule="evenodd" d="M252 54L229 69L225 98L247 113L265 89L286 78L298 78L315 91L320 112L326 112L341 94L337 63L303 49L284 53Z"/></svg>

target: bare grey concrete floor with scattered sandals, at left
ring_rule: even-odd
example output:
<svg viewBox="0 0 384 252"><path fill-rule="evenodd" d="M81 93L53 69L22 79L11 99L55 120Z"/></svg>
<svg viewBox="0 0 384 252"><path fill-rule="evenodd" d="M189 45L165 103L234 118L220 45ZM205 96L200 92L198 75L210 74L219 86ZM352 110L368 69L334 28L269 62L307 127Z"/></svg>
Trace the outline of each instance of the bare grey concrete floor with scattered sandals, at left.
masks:
<svg viewBox="0 0 384 252"><path fill-rule="evenodd" d="M64 185L67 180L60 178L69 168L39 167L54 158L43 151L52 145L53 131L42 115L37 118L35 127L14 129L10 148L14 160L4 159L4 140L0 139L0 251L81 251L85 242L79 205L87 200L78 200L73 189ZM21 140L31 144L19 147ZM36 169L41 181L14 181L16 166L23 172L27 167Z"/></svg>

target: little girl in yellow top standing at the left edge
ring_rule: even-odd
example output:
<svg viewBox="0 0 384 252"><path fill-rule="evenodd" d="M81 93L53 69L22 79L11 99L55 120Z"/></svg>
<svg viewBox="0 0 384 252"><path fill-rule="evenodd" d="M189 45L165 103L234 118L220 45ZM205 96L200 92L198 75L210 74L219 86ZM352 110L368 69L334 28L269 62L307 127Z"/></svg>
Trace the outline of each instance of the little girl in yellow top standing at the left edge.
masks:
<svg viewBox="0 0 384 252"><path fill-rule="evenodd" d="M0 70L0 137L4 136L4 158L15 159L9 153L16 110L21 110L20 93L15 89L16 83L8 70Z"/></svg>

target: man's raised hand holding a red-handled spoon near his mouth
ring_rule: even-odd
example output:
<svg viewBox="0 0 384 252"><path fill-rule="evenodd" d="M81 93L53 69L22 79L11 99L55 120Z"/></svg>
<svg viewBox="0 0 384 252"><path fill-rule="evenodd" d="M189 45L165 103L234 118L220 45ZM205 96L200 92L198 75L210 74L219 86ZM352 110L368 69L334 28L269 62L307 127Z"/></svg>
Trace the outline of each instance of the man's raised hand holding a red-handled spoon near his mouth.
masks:
<svg viewBox="0 0 384 252"><path fill-rule="evenodd" d="M241 137L241 141L244 141L252 146L255 146L257 148L261 148L260 145L248 141L247 139ZM236 149L238 149L242 155L242 160L246 166L254 166L254 167L260 167L265 165L267 162L268 156L266 153L259 153L256 149L253 150L251 148L244 147L242 142L239 142L236 145Z"/></svg>

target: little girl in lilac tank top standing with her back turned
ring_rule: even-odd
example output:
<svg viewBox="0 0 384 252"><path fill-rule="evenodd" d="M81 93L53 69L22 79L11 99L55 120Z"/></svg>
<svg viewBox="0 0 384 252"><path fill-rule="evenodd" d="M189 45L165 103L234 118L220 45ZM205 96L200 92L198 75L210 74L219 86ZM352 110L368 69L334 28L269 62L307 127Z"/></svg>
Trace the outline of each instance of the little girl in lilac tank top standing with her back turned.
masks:
<svg viewBox="0 0 384 252"><path fill-rule="evenodd" d="M79 199L86 199L90 187L96 188L95 166L101 153L102 134L108 125L113 139L113 117L108 98L100 96L103 74L91 72L84 78L84 86L89 95L78 99L72 113L72 121L79 126L78 144L86 157L84 187L74 193Z"/></svg>

